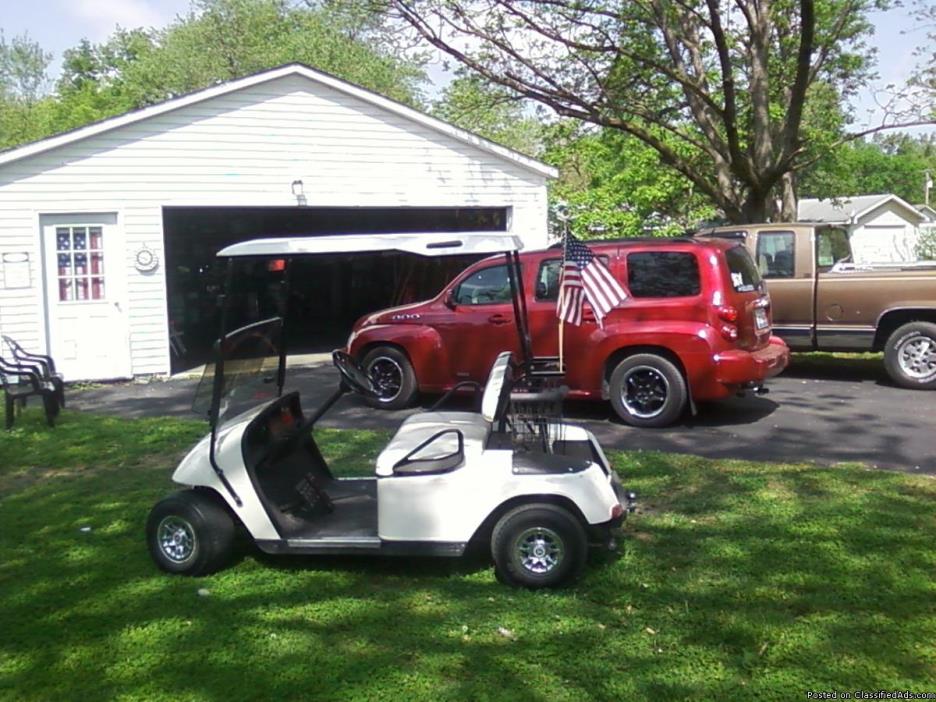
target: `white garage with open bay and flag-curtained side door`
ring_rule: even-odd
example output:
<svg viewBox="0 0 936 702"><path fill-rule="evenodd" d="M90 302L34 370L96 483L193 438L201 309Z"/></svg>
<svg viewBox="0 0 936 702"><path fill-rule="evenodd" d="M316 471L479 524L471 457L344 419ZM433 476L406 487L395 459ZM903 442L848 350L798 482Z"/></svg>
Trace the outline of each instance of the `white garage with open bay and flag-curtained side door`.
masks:
<svg viewBox="0 0 936 702"><path fill-rule="evenodd" d="M221 246L494 229L541 247L555 176L333 76L284 66L0 154L0 332L51 353L69 380L169 373L203 361L217 330ZM356 315L425 296L452 272L320 262L302 276L309 323L331 315L338 341Z"/></svg>

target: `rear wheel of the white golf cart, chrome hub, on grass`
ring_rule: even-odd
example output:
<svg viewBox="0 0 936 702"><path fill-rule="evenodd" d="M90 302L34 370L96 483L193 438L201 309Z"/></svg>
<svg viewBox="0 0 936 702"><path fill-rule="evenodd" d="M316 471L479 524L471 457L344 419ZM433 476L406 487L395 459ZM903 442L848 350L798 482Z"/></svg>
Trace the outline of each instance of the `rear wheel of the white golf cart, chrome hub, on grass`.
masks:
<svg viewBox="0 0 936 702"><path fill-rule="evenodd" d="M494 527L491 552L498 577L511 585L557 587L585 567L588 539L568 510L551 504L516 507Z"/></svg>

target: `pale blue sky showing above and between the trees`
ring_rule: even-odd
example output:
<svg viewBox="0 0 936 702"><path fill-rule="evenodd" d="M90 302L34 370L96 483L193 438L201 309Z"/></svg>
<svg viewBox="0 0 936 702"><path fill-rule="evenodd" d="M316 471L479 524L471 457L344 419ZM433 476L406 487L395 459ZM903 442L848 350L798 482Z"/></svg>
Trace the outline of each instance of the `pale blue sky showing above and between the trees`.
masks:
<svg viewBox="0 0 936 702"><path fill-rule="evenodd" d="M65 49L82 38L102 41L117 25L122 27L159 27L171 22L189 8L189 0L0 0L0 28L10 37L28 32L45 49L56 55L56 64ZM913 49L924 43L925 30L914 27L905 9L894 9L874 15L877 31L872 45L879 51L876 86L902 83L915 58ZM430 69L430 77L444 82L445 73L439 67ZM855 104L856 124L868 121L874 114L872 90L865 90ZM879 115L879 113L877 113ZM878 116L878 121L880 117Z"/></svg>

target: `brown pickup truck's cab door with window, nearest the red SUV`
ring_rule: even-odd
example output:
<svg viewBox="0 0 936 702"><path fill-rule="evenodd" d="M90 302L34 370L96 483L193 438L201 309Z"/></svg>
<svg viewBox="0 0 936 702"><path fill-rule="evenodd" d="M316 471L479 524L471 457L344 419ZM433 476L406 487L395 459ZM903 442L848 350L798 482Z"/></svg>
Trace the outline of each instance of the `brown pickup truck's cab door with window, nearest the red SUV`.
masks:
<svg viewBox="0 0 936 702"><path fill-rule="evenodd" d="M756 240L748 245L767 281L774 333L791 349L814 348L815 259L811 236L784 229L761 230L754 236Z"/></svg>

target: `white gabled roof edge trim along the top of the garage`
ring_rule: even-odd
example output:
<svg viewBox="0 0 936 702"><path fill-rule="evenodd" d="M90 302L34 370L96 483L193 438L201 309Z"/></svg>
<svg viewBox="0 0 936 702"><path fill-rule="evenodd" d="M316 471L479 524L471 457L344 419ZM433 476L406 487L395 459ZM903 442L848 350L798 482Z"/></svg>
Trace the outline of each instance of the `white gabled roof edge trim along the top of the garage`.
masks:
<svg viewBox="0 0 936 702"><path fill-rule="evenodd" d="M170 100L166 100L165 102L161 102L157 105L126 112L122 115L110 117L99 122L88 124L84 127L79 127L68 132L56 134L39 141L34 141L30 144L25 144L14 149L10 149L9 151L0 152L0 166L27 158L29 156L34 156L45 151L50 151L60 146L73 144L77 141L87 139L88 137L92 137L103 132L119 129L120 127L128 124L141 122L145 119L149 119L150 117L165 114L166 112L171 112L172 110L187 107L188 105L211 100L212 98L216 98L221 95L227 95L228 93L233 93L238 90L243 90L245 88L250 88L255 85L278 80L280 78L286 78L289 76L301 76L321 85L328 86L329 88L339 92L345 93L346 95L351 95L352 97L363 100L364 102L368 102L372 105L375 105L376 107L386 110L387 112L392 112L396 115L399 115L400 117L403 117L404 119L421 124L425 127L445 134L446 136L451 137L457 141L470 144L471 146L474 146L481 151L485 151L505 161L510 161L522 168L533 171L534 173L545 176L547 178L555 178L559 174L557 169L543 163L542 161L537 161L536 159L525 156L518 151L508 149L507 147L501 146L500 144L495 144L494 142L484 139L477 134L460 129L459 127L449 124L448 122L443 122L440 119L431 117L423 112L420 112L419 110L413 109L412 107L407 107L406 105L397 102L396 100L384 97L383 95L378 95L377 93L367 90L366 88L354 85L353 83L349 83L328 73L317 71L300 63L291 63L285 66L279 66L277 68L261 71L245 78L229 80L224 83L211 86L210 88L205 88L193 93L188 93L187 95L182 95Z"/></svg>

